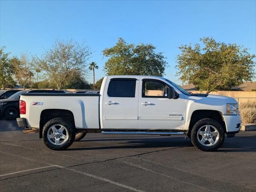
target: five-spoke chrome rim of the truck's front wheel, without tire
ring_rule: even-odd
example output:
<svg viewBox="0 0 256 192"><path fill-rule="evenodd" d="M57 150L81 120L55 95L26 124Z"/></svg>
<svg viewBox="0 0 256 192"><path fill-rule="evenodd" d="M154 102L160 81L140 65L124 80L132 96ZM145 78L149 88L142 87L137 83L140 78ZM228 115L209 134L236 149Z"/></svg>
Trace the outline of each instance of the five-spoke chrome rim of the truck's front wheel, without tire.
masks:
<svg viewBox="0 0 256 192"><path fill-rule="evenodd" d="M197 131L197 140L203 146L213 146L219 140L219 132L212 125L201 126Z"/></svg>

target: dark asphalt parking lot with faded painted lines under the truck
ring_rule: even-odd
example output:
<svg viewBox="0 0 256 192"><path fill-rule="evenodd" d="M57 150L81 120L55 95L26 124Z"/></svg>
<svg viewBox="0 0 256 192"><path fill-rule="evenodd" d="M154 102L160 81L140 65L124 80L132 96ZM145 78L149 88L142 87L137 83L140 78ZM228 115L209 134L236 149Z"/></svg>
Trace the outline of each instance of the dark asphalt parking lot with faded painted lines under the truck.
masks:
<svg viewBox="0 0 256 192"><path fill-rule="evenodd" d="M217 152L183 136L101 134L53 151L0 120L0 191L256 191L256 132Z"/></svg>

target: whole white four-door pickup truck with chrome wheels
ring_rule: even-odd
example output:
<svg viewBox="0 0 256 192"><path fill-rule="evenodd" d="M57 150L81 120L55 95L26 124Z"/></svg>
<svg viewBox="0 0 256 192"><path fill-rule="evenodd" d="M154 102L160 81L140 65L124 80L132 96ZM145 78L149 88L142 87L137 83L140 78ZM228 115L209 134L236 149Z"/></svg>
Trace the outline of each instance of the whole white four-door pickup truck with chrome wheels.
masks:
<svg viewBox="0 0 256 192"><path fill-rule="evenodd" d="M182 134L203 151L240 130L234 98L191 94L155 76L106 76L99 94L22 94L18 126L64 150L86 133Z"/></svg>

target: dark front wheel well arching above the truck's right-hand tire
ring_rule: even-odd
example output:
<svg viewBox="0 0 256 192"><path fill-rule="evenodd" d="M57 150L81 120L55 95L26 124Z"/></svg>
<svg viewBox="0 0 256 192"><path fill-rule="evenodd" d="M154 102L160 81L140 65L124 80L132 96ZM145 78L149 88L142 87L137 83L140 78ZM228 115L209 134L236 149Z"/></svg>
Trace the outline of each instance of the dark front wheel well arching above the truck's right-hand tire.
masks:
<svg viewBox="0 0 256 192"><path fill-rule="evenodd" d="M222 127L225 130L226 133L226 124L223 120L222 114L219 111L215 111L215 110L195 110L190 118L190 123L189 123L189 131L188 134L191 133L191 130L194 126L194 124L199 121L200 119L204 119L204 118L211 118L216 120L217 122L219 122Z"/></svg>

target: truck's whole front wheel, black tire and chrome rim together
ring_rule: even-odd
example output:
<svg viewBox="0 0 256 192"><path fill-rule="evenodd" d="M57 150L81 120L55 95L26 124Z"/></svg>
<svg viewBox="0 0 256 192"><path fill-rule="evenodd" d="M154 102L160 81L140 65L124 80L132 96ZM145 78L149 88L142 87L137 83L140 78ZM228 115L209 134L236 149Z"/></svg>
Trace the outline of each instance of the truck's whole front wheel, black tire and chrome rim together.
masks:
<svg viewBox="0 0 256 192"><path fill-rule="evenodd" d="M197 121L191 130L192 144L202 151L215 151L224 142L225 132L219 122L211 118Z"/></svg>

